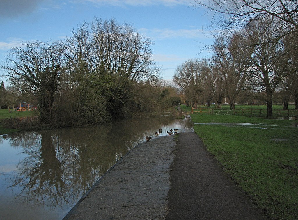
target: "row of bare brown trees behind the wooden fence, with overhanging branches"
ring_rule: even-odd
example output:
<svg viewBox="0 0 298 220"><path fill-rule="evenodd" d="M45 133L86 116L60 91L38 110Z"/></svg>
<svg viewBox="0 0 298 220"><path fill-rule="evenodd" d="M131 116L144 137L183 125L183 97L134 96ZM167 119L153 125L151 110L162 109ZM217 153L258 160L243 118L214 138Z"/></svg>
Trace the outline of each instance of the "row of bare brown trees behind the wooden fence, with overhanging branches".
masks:
<svg viewBox="0 0 298 220"><path fill-rule="evenodd" d="M241 96L253 93L267 104L267 117L277 95L284 109L290 98L298 109L297 1L192 4L219 16L211 25L216 30L208 47L212 58L189 59L173 77L193 107L211 101L220 105L227 98L232 109Z"/></svg>

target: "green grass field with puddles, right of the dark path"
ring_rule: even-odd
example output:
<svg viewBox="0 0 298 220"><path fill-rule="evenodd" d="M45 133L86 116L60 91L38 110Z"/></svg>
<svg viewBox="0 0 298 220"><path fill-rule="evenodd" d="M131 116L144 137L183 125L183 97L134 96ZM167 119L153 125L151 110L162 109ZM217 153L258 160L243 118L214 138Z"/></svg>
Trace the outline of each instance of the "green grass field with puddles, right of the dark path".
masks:
<svg viewBox="0 0 298 220"><path fill-rule="evenodd" d="M226 173L271 219L298 219L297 120L207 114L193 114L191 119L226 123L195 124L194 130Z"/></svg>

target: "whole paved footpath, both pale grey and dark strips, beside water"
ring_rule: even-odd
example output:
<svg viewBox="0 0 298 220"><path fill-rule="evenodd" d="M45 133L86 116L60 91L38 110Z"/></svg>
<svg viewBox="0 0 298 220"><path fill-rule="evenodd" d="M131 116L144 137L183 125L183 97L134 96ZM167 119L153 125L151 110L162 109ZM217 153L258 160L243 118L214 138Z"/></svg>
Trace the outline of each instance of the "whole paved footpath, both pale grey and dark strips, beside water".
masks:
<svg viewBox="0 0 298 220"><path fill-rule="evenodd" d="M65 219L266 219L185 131L137 145Z"/></svg>

